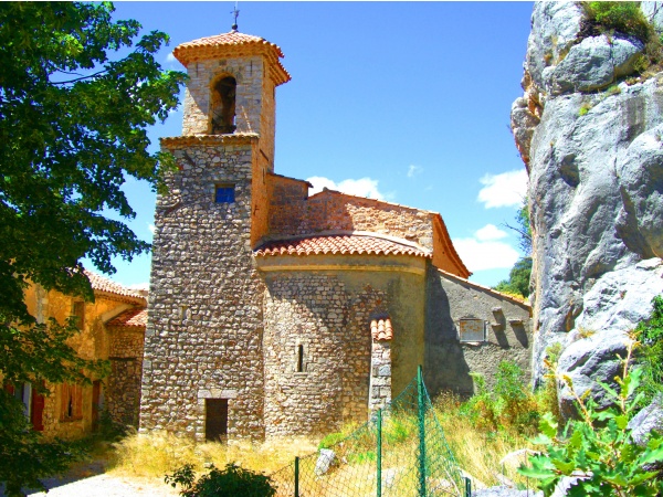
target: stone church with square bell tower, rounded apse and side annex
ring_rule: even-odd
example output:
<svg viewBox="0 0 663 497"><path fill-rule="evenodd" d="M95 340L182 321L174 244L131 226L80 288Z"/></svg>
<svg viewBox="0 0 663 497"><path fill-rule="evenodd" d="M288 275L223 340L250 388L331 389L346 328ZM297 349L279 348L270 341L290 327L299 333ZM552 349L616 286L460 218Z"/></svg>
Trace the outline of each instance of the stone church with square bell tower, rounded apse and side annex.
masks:
<svg viewBox="0 0 663 497"><path fill-rule="evenodd" d="M424 368L434 393L528 370L529 307L470 283L440 214L274 172L275 44L233 30L187 67L179 171L157 198L140 430L197 440L365 421Z"/></svg>

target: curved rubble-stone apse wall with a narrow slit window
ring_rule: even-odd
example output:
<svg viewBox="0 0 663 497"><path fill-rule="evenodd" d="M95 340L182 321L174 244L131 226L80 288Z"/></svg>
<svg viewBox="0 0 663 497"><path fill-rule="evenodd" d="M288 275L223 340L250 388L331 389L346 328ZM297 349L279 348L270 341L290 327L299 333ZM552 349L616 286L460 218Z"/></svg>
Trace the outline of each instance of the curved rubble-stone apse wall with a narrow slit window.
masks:
<svg viewBox="0 0 663 497"><path fill-rule="evenodd" d="M366 421L369 324L377 309L387 305L385 298L370 287L351 295L332 274L267 276L267 436L329 433L345 422ZM302 372L297 372L299 346L304 351Z"/></svg>

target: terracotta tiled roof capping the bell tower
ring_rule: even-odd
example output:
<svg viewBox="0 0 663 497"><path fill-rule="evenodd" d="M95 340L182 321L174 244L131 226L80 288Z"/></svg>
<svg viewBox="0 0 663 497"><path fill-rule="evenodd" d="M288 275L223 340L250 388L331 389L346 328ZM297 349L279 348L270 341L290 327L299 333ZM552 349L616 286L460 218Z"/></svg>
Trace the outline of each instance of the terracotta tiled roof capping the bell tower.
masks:
<svg viewBox="0 0 663 497"><path fill-rule="evenodd" d="M264 38L240 33L232 30L228 33L200 38L182 43L172 51L172 55L185 66L191 62L224 59L232 56L264 55L270 62L272 77L276 85L291 81L291 75L281 64L283 52L278 45Z"/></svg>

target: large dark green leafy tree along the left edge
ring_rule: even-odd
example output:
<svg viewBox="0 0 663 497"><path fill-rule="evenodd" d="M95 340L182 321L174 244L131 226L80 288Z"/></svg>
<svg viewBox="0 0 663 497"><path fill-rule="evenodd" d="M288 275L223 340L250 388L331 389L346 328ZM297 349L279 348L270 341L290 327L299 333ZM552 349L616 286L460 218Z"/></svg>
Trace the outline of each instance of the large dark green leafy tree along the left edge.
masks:
<svg viewBox="0 0 663 497"><path fill-rule="evenodd" d="M158 188L172 159L148 151L146 127L178 105L185 75L154 56L168 41L137 38L137 21L113 21L110 3L0 3L0 378L9 383L83 381L101 364L67 346L73 322L36 324L23 303L30 283L93 299L81 260L113 273L149 245L131 219L128 176ZM0 480L10 493L56 469L64 444L42 443L0 396ZM51 448L48 448L51 447ZM32 451L33 458L21 454ZM39 455L39 456L36 456ZM31 475L29 478L27 475ZM20 495L20 494L19 494Z"/></svg>

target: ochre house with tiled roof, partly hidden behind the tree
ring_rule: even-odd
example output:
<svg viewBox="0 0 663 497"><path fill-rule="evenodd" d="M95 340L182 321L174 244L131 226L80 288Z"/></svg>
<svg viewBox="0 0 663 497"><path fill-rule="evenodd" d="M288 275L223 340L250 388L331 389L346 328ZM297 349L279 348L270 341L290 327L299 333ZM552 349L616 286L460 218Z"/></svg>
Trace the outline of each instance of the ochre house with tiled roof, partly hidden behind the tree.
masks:
<svg viewBox="0 0 663 497"><path fill-rule="evenodd" d="M69 343L84 359L110 363L106 378L91 385L49 384L44 396L30 383L7 384L23 401L25 415L35 431L48 437L75 438L94 431L101 413L123 425L138 425L143 343L147 322L147 299L141 292L125 288L97 274L87 273L95 302L44 290L31 285L25 305L38 322L53 318L64 324L77 319L81 332Z"/></svg>

